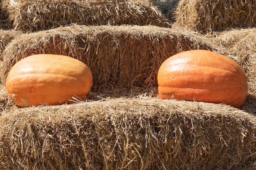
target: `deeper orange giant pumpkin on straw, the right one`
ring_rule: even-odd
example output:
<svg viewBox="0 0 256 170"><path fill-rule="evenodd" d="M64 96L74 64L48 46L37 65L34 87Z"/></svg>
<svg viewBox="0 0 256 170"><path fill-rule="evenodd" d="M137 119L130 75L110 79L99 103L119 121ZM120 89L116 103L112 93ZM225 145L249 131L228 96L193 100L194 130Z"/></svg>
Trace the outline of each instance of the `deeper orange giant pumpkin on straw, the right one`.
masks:
<svg viewBox="0 0 256 170"><path fill-rule="evenodd" d="M241 107L247 77L235 61L209 50L189 50L166 59L157 74L162 99L225 103Z"/></svg>

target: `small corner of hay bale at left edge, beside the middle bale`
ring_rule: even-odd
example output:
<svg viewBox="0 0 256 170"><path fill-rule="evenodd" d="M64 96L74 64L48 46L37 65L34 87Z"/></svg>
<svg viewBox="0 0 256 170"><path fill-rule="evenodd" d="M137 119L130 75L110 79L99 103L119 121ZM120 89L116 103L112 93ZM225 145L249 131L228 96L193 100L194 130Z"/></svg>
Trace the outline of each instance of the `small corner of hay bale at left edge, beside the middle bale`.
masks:
<svg viewBox="0 0 256 170"><path fill-rule="evenodd" d="M0 61L2 61L1 54L5 47L21 33L14 30L0 30Z"/></svg>

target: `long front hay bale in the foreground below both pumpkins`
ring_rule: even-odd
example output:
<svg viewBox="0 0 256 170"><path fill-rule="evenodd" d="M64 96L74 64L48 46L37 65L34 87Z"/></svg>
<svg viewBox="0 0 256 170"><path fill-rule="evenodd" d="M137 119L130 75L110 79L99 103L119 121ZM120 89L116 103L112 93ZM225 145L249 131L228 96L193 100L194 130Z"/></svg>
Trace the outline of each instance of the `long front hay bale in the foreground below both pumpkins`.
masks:
<svg viewBox="0 0 256 170"><path fill-rule="evenodd" d="M9 110L4 169L248 169L256 118L227 105L110 99Z"/></svg>

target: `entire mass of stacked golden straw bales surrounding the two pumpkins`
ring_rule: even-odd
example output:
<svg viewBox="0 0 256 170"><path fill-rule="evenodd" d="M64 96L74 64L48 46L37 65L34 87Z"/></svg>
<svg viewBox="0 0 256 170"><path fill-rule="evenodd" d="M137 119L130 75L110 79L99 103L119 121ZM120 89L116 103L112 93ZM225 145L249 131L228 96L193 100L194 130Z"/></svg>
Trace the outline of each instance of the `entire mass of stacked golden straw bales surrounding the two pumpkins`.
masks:
<svg viewBox="0 0 256 170"><path fill-rule="evenodd" d="M256 169L255 11L253 0L1 0L0 169ZM243 107L159 99L161 63L193 49L245 70ZM86 101L13 104L10 68L45 53L89 66Z"/></svg>

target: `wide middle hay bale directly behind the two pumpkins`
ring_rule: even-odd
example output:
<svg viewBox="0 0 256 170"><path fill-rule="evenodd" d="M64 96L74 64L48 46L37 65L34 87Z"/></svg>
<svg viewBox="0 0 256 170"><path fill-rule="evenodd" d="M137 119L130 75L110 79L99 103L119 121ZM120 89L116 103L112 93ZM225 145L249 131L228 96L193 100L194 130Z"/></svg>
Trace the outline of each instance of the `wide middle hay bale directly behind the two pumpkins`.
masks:
<svg viewBox="0 0 256 170"><path fill-rule="evenodd" d="M168 57L191 49L211 50L203 40L189 31L157 26L70 26L29 33L4 50L2 84L20 59L31 54L62 54L88 65L93 92L118 97L135 89L141 94L157 86L159 66Z"/></svg>

